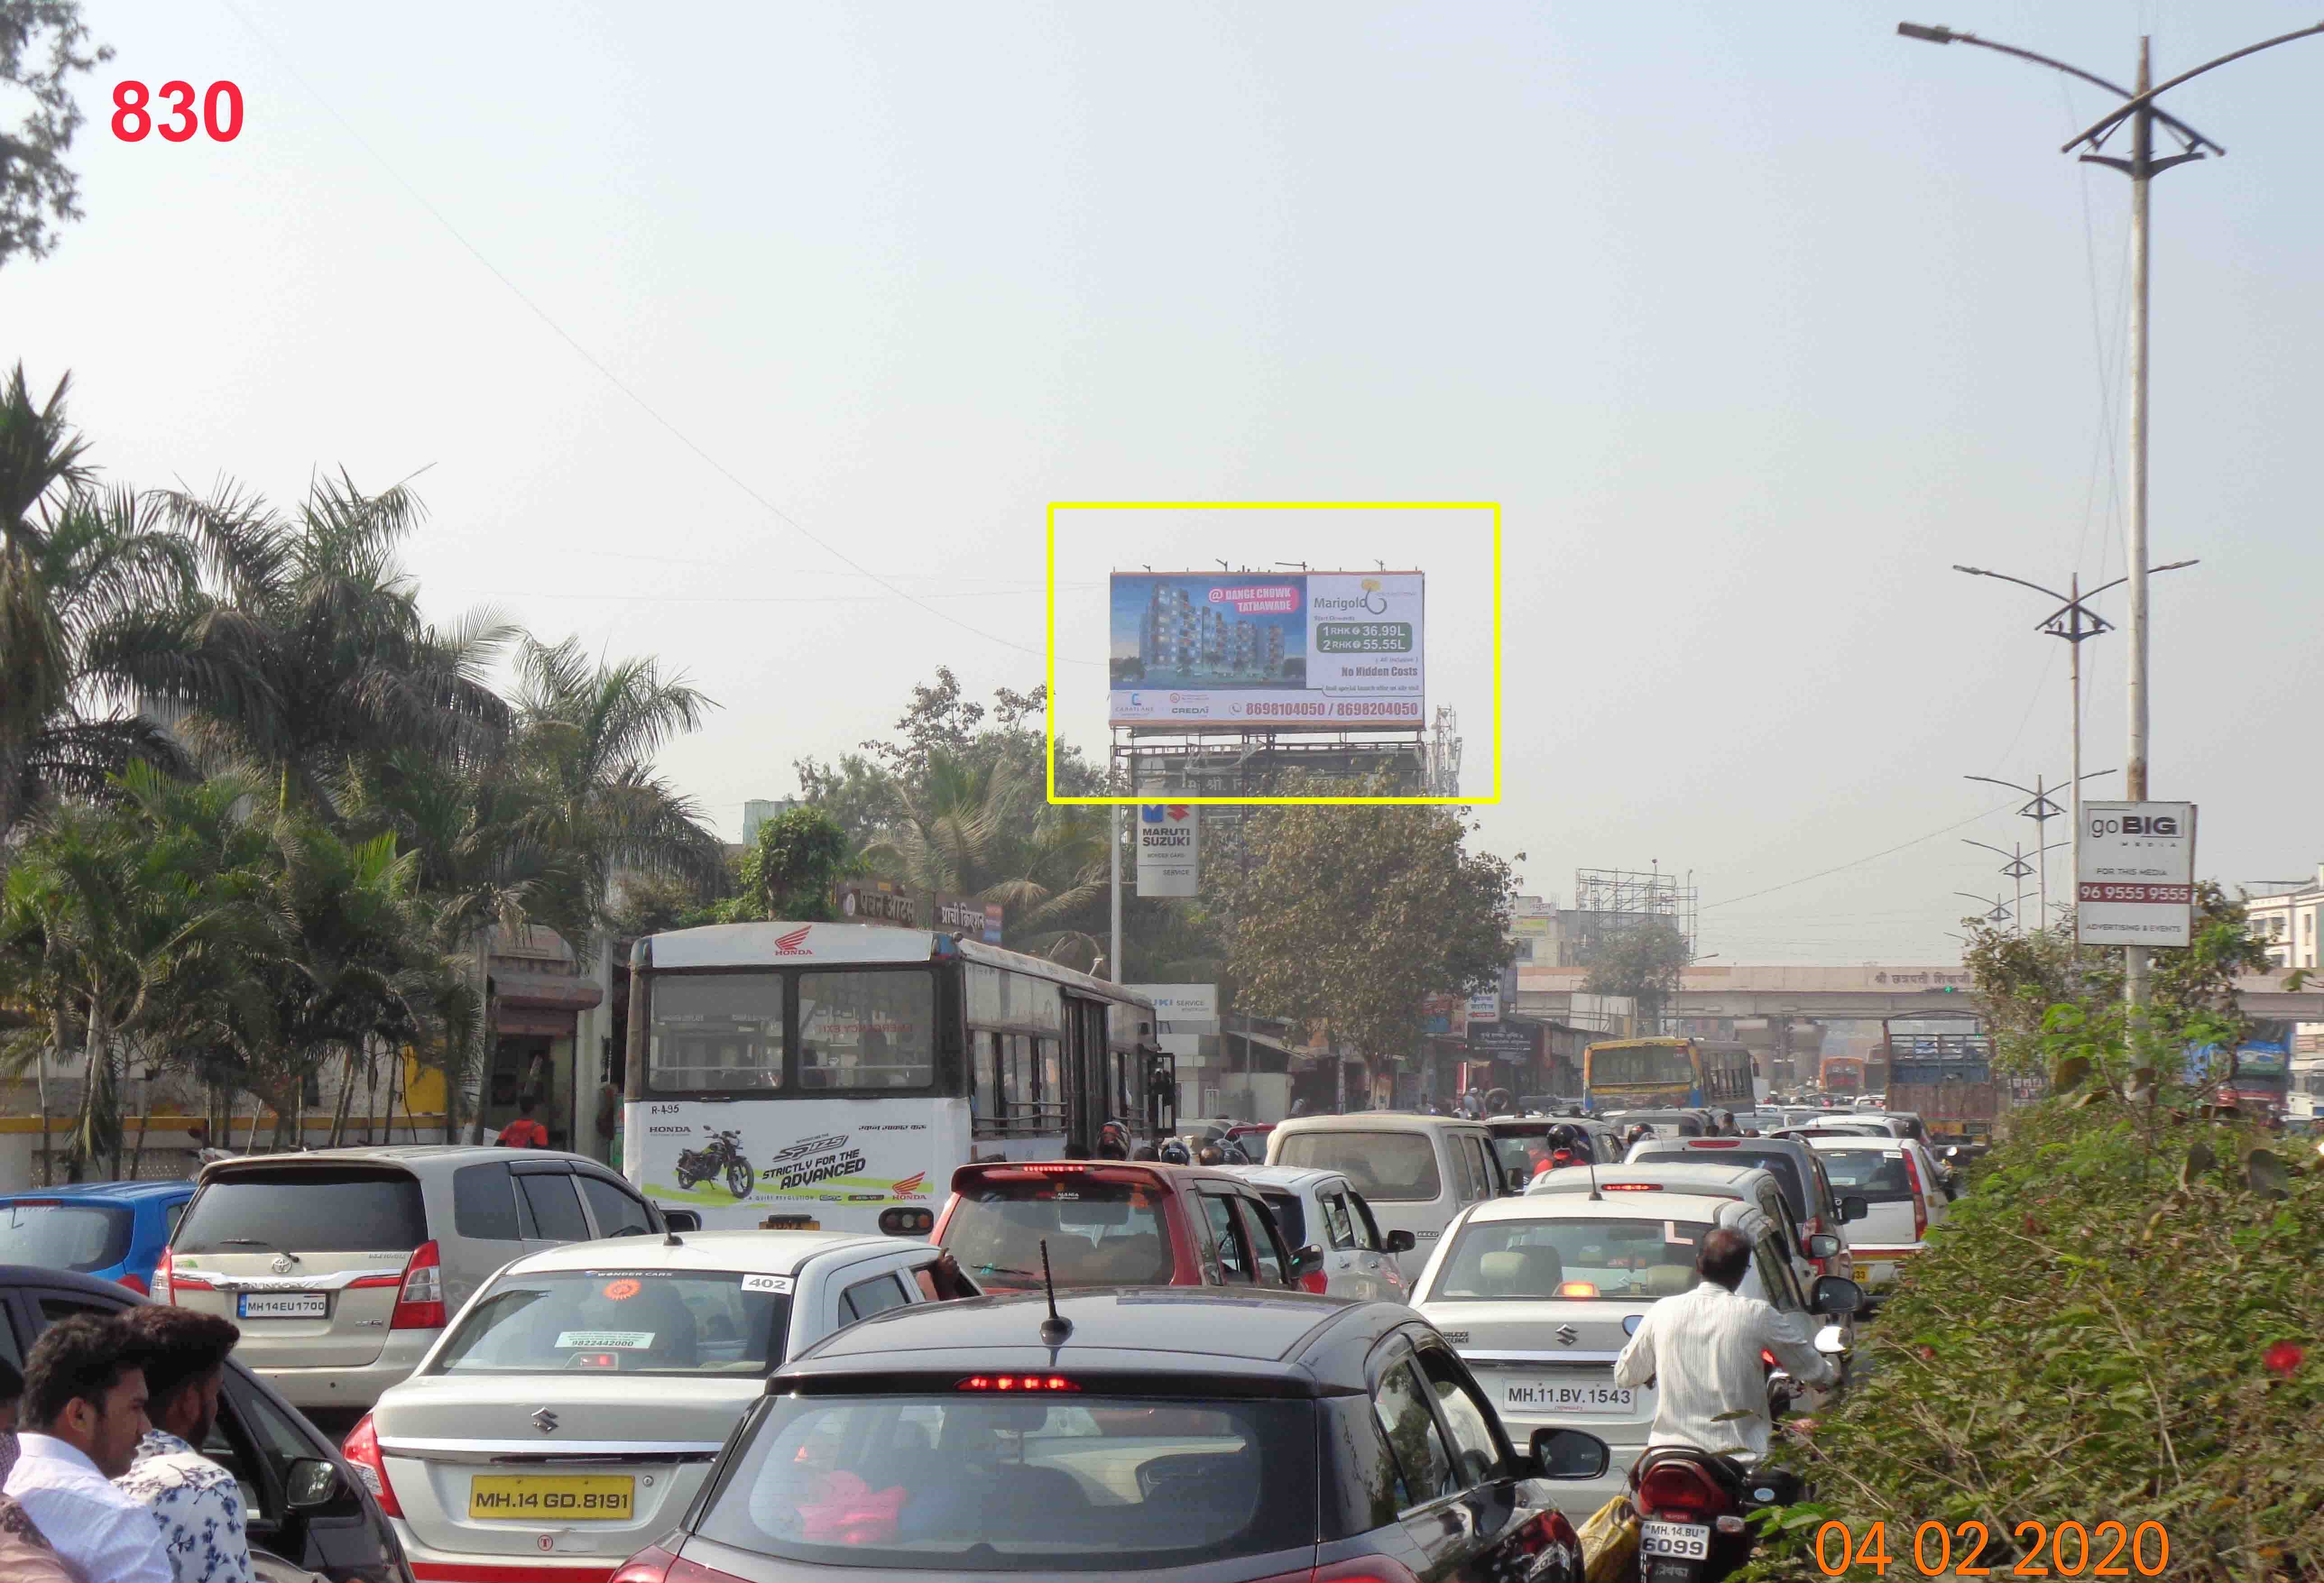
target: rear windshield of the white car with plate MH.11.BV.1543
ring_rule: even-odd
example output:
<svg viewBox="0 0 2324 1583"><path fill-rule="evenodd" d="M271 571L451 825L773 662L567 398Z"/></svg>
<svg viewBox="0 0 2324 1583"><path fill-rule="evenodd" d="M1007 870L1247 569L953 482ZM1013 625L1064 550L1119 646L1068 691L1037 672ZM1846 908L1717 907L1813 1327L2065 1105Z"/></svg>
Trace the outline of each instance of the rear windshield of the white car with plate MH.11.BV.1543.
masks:
<svg viewBox="0 0 2324 1583"><path fill-rule="evenodd" d="M1473 1220L1452 1241L1429 1302L1636 1302L1701 1276L1699 1220Z"/></svg>

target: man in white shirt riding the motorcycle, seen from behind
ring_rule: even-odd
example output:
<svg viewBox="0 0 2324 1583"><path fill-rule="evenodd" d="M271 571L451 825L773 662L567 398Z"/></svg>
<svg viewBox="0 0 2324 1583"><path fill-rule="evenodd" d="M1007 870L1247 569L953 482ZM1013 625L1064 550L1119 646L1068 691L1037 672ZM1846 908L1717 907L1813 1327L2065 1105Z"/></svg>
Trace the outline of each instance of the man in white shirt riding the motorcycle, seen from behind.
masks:
<svg viewBox="0 0 2324 1583"><path fill-rule="evenodd" d="M1838 1369L1815 1351L1806 1313L1745 1297L1750 1239L1724 1225L1703 1234L1701 1281L1664 1297L1613 1360L1615 1385L1655 1385L1648 1446L1697 1446L1757 1462L1766 1455L1766 1348L1803 1385L1831 1385Z"/></svg>

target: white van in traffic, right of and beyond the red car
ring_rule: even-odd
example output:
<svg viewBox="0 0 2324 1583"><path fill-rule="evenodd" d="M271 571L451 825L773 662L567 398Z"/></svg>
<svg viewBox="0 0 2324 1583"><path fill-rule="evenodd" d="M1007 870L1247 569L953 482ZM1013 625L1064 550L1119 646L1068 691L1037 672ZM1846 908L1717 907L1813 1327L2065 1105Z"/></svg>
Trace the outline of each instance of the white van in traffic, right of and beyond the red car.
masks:
<svg viewBox="0 0 2324 1583"><path fill-rule="evenodd" d="M1452 1216L1508 1192L1492 1132L1464 1116L1301 1116L1267 1134L1267 1165L1341 1172L1371 1204L1383 1232L1411 1232L1413 1246L1397 1255L1406 1290Z"/></svg>

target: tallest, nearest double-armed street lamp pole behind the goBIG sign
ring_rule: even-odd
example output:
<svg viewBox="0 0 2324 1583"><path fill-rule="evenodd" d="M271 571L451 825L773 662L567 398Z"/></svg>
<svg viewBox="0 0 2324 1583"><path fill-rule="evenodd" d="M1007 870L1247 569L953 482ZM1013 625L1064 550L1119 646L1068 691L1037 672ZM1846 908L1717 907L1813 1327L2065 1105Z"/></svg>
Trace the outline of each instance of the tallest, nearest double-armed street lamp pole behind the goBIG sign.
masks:
<svg viewBox="0 0 2324 1583"><path fill-rule="evenodd" d="M2243 56L2254 56L2261 49L2273 49L2278 44L2289 44L2291 40L2312 37L2324 33L2324 23L2312 28L2298 28L2294 33L2278 35L2273 40L2261 40L2259 44L2245 44L2243 49L2229 51L2217 60L2205 60L2192 72L2180 72L2166 84L2154 81L2150 42L2138 40L2138 86L2133 91L2122 91L2103 77L2094 77L2078 65L2066 65L2064 60L2052 60L2050 56L2036 56L2031 49L2017 49L2015 44L1994 44L1992 40L1980 40L1971 33L1957 33L1952 28L1927 28L1922 23L1896 23L1896 33L1908 40L1922 40L1927 44L1980 44L1985 49L1996 49L2006 56L2017 56L2020 60L2033 60L2036 65L2047 65L2052 70L2066 72L2068 77L2080 77L2082 81L2096 84L2122 100L2106 116L2092 126L2075 132L2059 153L2073 153L2080 146L2089 146L2082 153L2087 165L2106 165L2119 170L2131 179L2131 521L2129 521L2129 583L2131 583L2131 669L2129 669L2129 748L2124 758L2124 795L2131 802L2145 802L2147 797L2147 207L2150 188L2154 177L2173 165L2185 165L2187 160L2203 158L2203 149L2224 156L2226 149L2203 137L2192 126L2178 116L2157 109L2157 95L2180 86L2192 77L2201 77L2229 60L2240 60ZM2131 123L2131 156L2119 158L2110 153L2099 153L2106 139L2115 135L2124 121ZM2154 123L2161 121L2171 128L2173 137L2180 139L2180 153L2154 158ZM2080 816L2075 816L2075 832L2080 835ZM2075 865L2075 881L2080 886L2080 865ZM2080 897L2080 890L2075 893ZM2138 1013L2147 1004L2147 946L2124 946L2122 948L2122 995L2131 1007L2131 1018L2136 1023ZM2133 1027L2136 1037L2136 1027Z"/></svg>

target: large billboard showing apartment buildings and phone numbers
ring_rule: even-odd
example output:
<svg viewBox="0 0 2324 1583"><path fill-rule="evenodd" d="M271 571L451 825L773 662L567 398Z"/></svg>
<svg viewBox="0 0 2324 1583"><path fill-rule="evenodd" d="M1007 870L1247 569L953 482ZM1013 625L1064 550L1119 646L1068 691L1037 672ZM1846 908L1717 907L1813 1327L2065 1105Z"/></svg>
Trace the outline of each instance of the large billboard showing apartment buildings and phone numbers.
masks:
<svg viewBox="0 0 2324 1583"><path fill-rule="evenodd" d="M1116 572L1113 725L1425 725L1420 572Z"/></svg>

